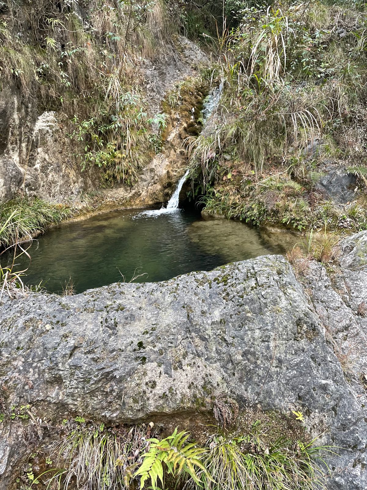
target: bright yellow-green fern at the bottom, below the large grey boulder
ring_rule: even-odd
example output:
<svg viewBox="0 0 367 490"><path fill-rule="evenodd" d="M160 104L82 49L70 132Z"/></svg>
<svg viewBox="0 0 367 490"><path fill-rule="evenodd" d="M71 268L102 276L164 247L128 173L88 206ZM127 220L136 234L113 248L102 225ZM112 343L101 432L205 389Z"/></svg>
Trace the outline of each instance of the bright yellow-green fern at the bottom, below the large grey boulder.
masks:
<svg viewBox="0 0 367 490"><path fill-rule="evenodd" d="M144 454L142 465L134 473L134 476L140 476L140 490L149 478L153 490L157 489L158 479L161 480L163 486L164 469L175 477L183 472L187 473L198 485L200 484L197 475L199 469L209 481L214 481L201 461L206 449L197 447L195 443L185 445L189 437L190 434L184 431L178 432L176 427L174 433L162 441L149 440L149 450ZM165 468L163 468L163 463Z"/></svg>

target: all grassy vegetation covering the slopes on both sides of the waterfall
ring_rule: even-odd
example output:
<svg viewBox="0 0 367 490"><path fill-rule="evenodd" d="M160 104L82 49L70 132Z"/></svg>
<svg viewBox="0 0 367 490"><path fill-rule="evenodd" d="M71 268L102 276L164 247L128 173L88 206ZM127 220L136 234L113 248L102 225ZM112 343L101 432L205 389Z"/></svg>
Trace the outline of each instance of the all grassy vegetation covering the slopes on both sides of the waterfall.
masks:
<svg viewBox="0 0 367 490"><path fill-rule="evenodd" d="M180 51L180 34L212 66L159 106L144 64ZM1 88L66 114L81 167L106 185L133 186L176 115L189 121L203 87L222 87L201 134L196 114L183 135L192 194L254 224L366 227L366 68L361 1L0 2Z"/></svg>

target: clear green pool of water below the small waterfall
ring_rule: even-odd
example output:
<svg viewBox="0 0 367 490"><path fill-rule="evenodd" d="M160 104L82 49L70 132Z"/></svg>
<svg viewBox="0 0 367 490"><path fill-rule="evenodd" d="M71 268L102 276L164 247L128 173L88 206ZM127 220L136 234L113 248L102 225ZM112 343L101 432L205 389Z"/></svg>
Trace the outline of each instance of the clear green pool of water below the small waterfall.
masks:
<svg viewBox="0 0 367 490"><path fill-rule="evenodd" d="M238 260L284 253L297 242L288 233L267 235L227 220L204 220L195 211L157 217L124 210L49 230L28 250L25 282L43 281L62 293L71 277L77 293L122 281L161 281L193 270L211 270ZM27 266L29 261L17 261Z"/></svg>

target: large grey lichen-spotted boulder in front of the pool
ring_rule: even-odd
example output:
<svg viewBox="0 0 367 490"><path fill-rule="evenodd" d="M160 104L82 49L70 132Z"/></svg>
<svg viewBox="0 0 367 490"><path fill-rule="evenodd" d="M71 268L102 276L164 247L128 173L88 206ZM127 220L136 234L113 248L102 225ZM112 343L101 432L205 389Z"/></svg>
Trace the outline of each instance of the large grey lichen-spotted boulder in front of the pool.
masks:
<svg viewBox="0 0 367 490"><path fill-rule="evenodd" d="M149 421L210 411L227 392L240 408L301 410L313 435L325 431L321 443L344 448L329 459L329 488L366 488L363 408L281 256L162 283L5 299L0 324L4 409L28 403L50 421ZM12 424L2 426L0 488L28 450Z"/></svg>

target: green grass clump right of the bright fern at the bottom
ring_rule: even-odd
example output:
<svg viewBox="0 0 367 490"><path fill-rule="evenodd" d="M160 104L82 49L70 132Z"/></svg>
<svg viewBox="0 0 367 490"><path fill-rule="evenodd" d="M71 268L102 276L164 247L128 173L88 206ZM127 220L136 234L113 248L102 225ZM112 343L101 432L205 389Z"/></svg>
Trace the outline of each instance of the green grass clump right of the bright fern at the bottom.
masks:
<svg viewBox="0 0 367 490"><path fill-rule="evenodd" d="M257 421L258 422L258 421ZM249 434L209 438L203 463L213 479L201 473L207 490L265 490L325 488L327 466L322 454L332 452L314 442L293 442L286 437L270 442L255 422ZM199 487L196 487L199 488Z"/></svg>

